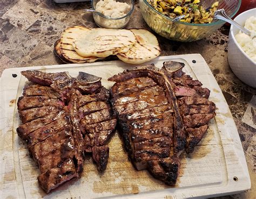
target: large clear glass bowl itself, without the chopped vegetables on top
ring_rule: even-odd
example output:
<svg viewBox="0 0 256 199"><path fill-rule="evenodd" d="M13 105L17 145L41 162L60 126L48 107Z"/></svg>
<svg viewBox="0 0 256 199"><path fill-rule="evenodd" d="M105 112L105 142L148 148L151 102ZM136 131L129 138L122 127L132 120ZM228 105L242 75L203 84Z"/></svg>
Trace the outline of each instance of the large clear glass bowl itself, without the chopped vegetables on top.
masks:
<svg viewBox="0 0 256 199"><path fill-rule="evenodd" d="M203 7L208 8L213 2L215 0L206 0L203 2ZM219 0L218 9L225 9L227 15L232 18L239 10L240 5L241 0ZM210 24L173 22L170 17L155 10L146 0L139 0L139 6L145 22L153 31L167 39L179 42L193 42L203 39L226 23L217 19Z"/></svg>

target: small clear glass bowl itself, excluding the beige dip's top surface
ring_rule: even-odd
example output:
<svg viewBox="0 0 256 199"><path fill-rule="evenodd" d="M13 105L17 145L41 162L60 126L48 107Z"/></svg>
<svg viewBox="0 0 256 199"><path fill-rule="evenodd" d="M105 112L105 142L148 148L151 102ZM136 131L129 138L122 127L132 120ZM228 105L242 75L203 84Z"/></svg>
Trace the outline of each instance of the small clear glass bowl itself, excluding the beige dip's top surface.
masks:
<svg viewBox="0 0 256 199"><path fill-rule="evenodd" d="M92 9L95 10L96 4L100 0L92 0ZM127 23L130 20L131 14L134 10L134 1L133 0L116 0L116 2L122 2L122 3L127 3L131 5L131 10L127 13L127 15L119 18L112 18L112 17L107 17L104 15L99 15L96 12L93 12L93 19L95 20L95 23L101 27L101 28L107 28L107 29L122 29L124 26L127 25Z"/></svg>

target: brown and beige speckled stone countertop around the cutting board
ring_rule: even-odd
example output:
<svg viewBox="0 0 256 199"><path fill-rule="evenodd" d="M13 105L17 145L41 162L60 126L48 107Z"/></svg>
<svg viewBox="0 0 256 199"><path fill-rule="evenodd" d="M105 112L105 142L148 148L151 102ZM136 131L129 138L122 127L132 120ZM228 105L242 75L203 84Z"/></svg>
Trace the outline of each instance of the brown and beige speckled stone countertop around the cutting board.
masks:
<svg viewBox="0 0 256 199"><path fill-rule="evenodd" d="M96 27L91 13L82 9L90 3L55 4L52 0L0 1L0 75L5 68L60 64L53 55L53 44L72 25ZM126 28L149 27L136 4ZM256 198L256 89L234 76L227 62L228 28L223 27L206 39L178 43L157 36L161 56L200 53L210 66L227 100L237 125L252 187L237 195L219 198Z"/></svg>

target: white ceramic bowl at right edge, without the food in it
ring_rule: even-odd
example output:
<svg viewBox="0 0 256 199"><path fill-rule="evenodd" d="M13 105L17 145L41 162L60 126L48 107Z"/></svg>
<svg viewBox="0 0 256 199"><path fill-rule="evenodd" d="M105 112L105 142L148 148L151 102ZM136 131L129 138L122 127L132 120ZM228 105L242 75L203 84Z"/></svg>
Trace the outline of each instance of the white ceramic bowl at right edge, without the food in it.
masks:
<svg viewBox="0 0 256 199"><path fill-rule="evenodd" d="M256 8L247 10L240 13L234 18L235 22L245 25L245 20L251 16L256 17ZM231 70L234 72L241 81L245 84L256 87L256 64L247 56L247 54L241 49L235 35L239 32L239 29L233 25L230 28L230 36L228 40L228 63Z"/></svg>

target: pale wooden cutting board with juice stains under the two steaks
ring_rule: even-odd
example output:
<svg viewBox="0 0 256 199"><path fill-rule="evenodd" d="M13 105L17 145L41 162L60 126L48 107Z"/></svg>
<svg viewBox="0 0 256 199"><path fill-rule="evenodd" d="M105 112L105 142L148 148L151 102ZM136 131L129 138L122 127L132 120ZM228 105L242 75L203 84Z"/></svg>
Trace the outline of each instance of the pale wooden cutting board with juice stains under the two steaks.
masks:
<svg viewBox="0 0 256 199"><path fill-rule="evenodd" d="M82 178L69 182L46 195L39 188L39 169L30 158L25 143L17 136L20 121L17 99L22 95L26 78L21 71L29 69L44 72L68 71L76 77L79 71L102 77L102 83L110 88L107 78L123 72L133 65L122 61L106 61L90 64L68 64L10 68L1 78L1 134L0 134L0 198L181 198L211 197L234 194L251 187L244 151L227 102L200 54L159 57L150 61L161 67L164 61L185 63L184 71L211 90L210 100L217 106L217 115L210 122L204 139L191 155L182 156L176 187L166 186L154 179L146 170L137 171L127 158L118 133L109 142L110 158L104 175L98 175L91 157L84 163ZM196 61L196 63L195 63ZM16 77L17 75L17 77Z"/></svg>

